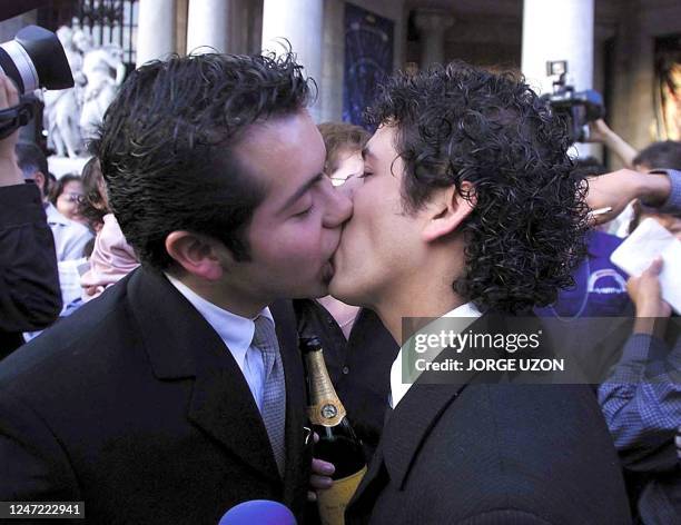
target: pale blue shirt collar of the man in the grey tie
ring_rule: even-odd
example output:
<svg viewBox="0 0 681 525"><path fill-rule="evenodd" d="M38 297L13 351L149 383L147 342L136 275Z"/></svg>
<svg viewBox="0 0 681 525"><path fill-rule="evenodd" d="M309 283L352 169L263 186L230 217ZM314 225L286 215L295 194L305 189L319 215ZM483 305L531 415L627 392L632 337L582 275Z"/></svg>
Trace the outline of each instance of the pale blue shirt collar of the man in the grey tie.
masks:
<svg viewBox="0 0 681 525"><path fill-rule="evenodd" d="M166 274L166 277L175 288L204 316L208 324L217 331L220 339L225 343L239 368L244 369L246 360L246 351L253 341L255 334L255 319L241 317L231 311L227 311L219 306L214 305L209 300L191 290L187 285L179 279ZM264 316L270 319L274 324L274 318L269 308L264 308L257 316Z"/></svg>

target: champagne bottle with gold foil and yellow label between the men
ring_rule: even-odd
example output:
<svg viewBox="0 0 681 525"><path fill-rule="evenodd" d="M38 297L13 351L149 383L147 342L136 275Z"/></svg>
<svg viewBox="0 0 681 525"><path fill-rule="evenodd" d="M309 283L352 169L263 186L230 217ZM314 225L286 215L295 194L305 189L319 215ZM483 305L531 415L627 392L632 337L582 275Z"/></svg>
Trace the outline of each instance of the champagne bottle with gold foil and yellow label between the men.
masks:
<svg viewBox="0 0 681 525"><path fill-rule="evenodd" d="M319 339L302 337L300 350L307 376L307 414L319 436L314 456L336 467L330 488L319 491L319 516L324 525L343 525L345 507L366 473L366 458L328 377Z"/></svg>

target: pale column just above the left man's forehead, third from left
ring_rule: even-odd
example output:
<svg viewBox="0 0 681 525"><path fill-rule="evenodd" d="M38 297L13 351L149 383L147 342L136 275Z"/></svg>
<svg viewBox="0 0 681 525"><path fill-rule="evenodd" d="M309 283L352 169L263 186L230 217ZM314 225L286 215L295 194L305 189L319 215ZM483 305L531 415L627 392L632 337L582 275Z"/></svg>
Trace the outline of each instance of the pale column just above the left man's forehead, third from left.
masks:
<svg viewBox="0 0 681 525"><path fill-rule="evenodd" d="M263 4L263 49L277 55L285 52L282 39L290 42L298 62L305 67L305 75L322 86L323 51L323 0L265 0ZM319 121L319 100L309 112Z"/></svg>

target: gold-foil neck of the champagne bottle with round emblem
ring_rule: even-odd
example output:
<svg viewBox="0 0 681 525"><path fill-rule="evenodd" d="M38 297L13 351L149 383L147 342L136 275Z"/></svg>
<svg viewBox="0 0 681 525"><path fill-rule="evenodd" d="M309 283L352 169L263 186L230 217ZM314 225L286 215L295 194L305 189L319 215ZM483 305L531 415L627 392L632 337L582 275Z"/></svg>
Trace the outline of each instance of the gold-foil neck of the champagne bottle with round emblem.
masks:
<svg viewBox="0 0 681 525"><path fill-rule="evenodd" d="M346 416L336 389L330 380L324 353L322 350L305 354L308 380L308 416L313 425L334 427Z"/></svg>

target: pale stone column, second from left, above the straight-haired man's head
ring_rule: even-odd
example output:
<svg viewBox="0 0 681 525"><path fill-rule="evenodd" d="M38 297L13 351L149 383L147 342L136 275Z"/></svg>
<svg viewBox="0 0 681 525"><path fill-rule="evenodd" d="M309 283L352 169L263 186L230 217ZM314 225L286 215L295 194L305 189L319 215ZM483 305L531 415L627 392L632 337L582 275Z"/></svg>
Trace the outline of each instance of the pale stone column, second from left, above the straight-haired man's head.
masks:
<svg viewBox="0 0 681 525"><path fill-rule="evenodd" d="M229 0L189 0L187 53L200 47L214 48L221 53L227 52L229 3ZM198 52L211 52L211 50L199 49Z"/></svg>

